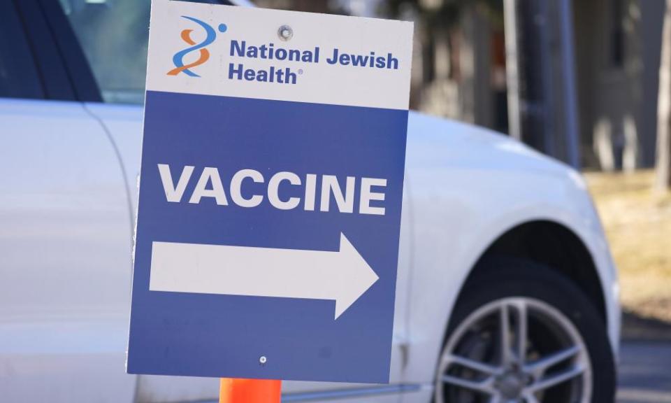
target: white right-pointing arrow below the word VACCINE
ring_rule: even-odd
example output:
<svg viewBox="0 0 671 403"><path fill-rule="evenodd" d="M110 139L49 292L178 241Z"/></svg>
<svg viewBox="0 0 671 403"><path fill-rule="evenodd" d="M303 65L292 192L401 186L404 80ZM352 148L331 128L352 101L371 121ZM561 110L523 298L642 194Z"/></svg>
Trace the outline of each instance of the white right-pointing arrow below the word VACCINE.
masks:
<svg viewBox="0 0 671 403"><path fill-rule="evenodd" d="M379 277L340 234L340 250L154 242L149 289L335 300L335 319Z"/></svg>

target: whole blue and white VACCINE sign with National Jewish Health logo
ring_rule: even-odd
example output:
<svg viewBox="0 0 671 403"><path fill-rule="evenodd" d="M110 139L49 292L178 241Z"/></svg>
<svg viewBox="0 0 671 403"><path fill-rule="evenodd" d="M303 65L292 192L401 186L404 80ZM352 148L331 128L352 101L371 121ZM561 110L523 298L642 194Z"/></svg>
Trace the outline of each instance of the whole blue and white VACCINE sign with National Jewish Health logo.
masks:
<svg viewBox="0 0 671 403"><path fill-rule="evenodd" d="M154 1L128 372L389 381L412 24Z"/></svg>

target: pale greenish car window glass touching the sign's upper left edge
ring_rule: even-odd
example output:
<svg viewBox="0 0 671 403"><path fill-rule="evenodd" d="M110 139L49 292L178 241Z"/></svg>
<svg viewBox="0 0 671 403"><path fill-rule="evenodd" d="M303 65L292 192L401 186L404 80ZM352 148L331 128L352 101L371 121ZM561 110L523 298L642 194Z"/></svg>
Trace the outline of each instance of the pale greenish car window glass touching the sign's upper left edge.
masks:
<svg viewBox="0 0 671 403"><path fill-rule="evenodd" d="M103 100L140 104L145 90L150 0L59 0Z"/></svg>

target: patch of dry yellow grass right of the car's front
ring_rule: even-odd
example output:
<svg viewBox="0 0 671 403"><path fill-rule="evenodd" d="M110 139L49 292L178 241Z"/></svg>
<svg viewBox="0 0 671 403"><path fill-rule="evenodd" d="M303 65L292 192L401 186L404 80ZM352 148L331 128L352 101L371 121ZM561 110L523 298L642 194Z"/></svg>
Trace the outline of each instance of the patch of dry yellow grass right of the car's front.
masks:
<svg viewBox="0 0 671 403"><path fill-rule="evenodd" d="M626 311L671 323L671 195L654 172L585 174L620 272Z"/></svg>

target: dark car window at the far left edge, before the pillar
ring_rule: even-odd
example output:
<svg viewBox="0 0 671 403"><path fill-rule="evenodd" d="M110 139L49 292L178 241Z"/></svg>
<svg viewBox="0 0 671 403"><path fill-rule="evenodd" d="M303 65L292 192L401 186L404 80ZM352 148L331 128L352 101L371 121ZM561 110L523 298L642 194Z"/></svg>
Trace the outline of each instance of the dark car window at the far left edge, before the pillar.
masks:
<svg viewBox="0 0 671 403"><path fill-rule="evenodd" d="M44 98L35 60L13 1L0 1L0 97Z"/></svg>

